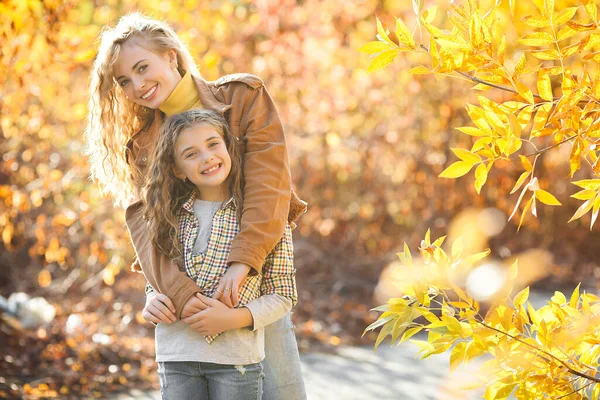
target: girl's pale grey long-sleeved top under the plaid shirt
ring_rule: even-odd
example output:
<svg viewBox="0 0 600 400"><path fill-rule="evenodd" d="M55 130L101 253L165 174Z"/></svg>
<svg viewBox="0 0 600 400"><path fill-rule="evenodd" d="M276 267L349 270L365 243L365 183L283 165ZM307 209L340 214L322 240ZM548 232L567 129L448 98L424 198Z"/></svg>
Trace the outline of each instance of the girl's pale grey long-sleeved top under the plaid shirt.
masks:
<svg viewBox="0 0 600 400"><path fill-rule="evenodd" d="M198 218L198 237L194 253L203 253L208 247L212 220L223 203L196 200L194 214ZM147 296L153 296L150 291ZM245 306L254 319L251 328L233 329L221 333L212 343L182 321L159 323L155 330L156 361L195 361L215 364L247 365L262 361L264 327L279 320L292 308L292 300L278 294L269 294L252 300Z"/></svg>

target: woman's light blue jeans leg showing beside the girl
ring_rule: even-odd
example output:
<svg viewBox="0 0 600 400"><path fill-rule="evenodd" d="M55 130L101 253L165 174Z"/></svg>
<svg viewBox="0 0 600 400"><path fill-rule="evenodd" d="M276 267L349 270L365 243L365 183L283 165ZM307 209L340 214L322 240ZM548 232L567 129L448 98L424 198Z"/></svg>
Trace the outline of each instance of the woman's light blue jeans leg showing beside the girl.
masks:
<svg viewBox="0 0 600 400"><path fill-rule="evenodd" d="M300 355L292 315L265 327L263 400L305 400Z"/></svg>

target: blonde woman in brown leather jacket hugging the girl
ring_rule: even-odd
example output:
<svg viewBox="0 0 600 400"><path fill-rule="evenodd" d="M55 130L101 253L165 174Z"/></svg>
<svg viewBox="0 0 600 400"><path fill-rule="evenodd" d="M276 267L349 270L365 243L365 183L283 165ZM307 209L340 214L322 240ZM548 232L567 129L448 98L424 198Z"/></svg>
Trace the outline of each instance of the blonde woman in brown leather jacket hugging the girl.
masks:
<svg viewBox="0 0 600 400"><path fill-rule="evenodd" d="M215 298L233 306L250 270L261 271L287 222L306 209L291 190L285 137L273 101L253 75L202 79L187 48L160 21L131 14L103 30L90 80L86 139L91 175L116 203L127 206L137 265L169 304L167 317L184 322L202 306L195 296L200 289L152 244L139 193L163 119L192 108L223 115L244 157L240 232L214 291ZM305 399L290 314L267 326L265 338L263 399Z"/></svg>

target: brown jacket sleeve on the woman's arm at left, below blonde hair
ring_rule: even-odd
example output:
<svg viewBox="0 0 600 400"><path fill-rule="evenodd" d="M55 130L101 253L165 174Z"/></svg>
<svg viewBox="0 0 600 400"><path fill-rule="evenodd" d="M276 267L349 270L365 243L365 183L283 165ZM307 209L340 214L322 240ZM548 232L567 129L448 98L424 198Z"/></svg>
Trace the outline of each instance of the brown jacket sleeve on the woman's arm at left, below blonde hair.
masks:
<svg viewBox="0 0 600 400"><path fill-rule="evenodd" d="M140 208L141 202L136 202L125 210L125 223L139 266L151 287L171 299L177 317L181 318L183 306L200 288L177 264L154 248Z"/></svg>

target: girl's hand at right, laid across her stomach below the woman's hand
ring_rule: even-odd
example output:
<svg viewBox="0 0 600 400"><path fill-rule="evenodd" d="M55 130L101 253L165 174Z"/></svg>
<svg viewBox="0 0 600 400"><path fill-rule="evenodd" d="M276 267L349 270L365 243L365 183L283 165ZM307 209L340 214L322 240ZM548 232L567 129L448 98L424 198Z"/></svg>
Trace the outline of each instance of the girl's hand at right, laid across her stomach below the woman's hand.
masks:
<svg viewBox="0 0 600 400"><path fill-rule="evenodd" d="M182 319L182 321L201 335L211 336L230 329L252 325L252 314L246 307L232 309L220 301L205 297L200 293L197 296L208 307L191 317Z"/></svg>

